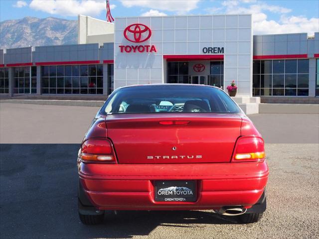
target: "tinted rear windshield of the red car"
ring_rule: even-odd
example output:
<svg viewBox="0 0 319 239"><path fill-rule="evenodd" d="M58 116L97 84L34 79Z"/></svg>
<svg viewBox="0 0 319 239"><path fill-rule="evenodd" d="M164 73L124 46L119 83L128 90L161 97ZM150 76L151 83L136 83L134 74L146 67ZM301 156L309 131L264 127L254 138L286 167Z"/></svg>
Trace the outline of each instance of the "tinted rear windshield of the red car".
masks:
<svg viewBox="0 0 319 239"><path fill-rule="evenodd" d="M239 113L238 106L218 88L190 85L127 87L115 91L102 114Z"/></svg>

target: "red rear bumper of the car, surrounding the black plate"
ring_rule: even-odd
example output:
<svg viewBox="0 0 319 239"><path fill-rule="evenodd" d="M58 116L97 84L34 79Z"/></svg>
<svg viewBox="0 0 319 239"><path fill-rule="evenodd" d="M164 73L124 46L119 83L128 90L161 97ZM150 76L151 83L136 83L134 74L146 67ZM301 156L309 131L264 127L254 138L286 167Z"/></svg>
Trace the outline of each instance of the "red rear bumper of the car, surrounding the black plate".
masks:
<svg viewBox="0 0 319 239"><path fill-rule="evenodd" d="M79 162L86 196L100 210L219 209L257 203L267 163L97 164ZM155 180L196 180L196 202L156 202Z"/></svg>

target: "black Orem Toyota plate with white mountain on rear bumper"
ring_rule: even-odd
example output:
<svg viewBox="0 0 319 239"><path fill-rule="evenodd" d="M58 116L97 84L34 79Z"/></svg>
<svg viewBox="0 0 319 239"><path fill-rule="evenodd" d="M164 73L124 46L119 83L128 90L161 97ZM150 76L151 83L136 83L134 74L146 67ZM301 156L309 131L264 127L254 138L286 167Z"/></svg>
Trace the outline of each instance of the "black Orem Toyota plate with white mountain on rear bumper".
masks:
<svg viewBox="0 0 319 239"><path fill-rule="evenodd" d="M195 202L195 181L155 181L155 201Z"/></svg>

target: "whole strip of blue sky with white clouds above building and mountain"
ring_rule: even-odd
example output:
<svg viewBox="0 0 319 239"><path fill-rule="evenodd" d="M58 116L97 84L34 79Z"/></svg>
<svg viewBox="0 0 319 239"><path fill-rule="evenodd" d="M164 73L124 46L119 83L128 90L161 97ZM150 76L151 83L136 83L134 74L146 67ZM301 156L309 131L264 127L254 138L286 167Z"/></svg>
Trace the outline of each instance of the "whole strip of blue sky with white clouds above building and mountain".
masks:
<svg viewBox="0 0 319 239"><path fill-rule="evenodd" d="M252 13L254 34L319 31L318 0L110 0L113 17ZM105 0L0 0L0 21L24 16L105 20Z"/></svg>

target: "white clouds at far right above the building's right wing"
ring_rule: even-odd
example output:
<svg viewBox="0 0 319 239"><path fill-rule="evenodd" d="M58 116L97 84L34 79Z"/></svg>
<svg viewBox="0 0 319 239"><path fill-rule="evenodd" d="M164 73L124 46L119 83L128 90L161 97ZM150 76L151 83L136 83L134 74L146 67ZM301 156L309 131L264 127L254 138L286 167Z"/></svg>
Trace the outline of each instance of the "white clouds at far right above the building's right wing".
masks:
<svg viewBox="0 0 319 239"><path fill-rule="evenodd" d="M245 5L241 4L245 3ZM305 16L287 15L292 9L270 5L262 1L223 1L223 9L220 12L229 14L250 13L253 16L254 34L280 34L280 33L297 33L307 32L313 35L319 31L319 18L307 18ZM214 13L211 8L206 9ZM265 12L272 12L280 15L278 21L267 19Z"/></svg>

